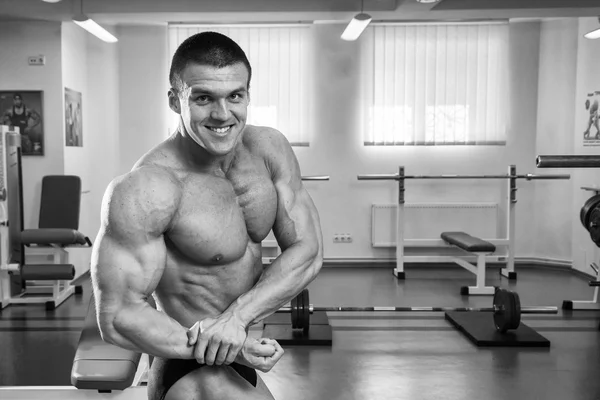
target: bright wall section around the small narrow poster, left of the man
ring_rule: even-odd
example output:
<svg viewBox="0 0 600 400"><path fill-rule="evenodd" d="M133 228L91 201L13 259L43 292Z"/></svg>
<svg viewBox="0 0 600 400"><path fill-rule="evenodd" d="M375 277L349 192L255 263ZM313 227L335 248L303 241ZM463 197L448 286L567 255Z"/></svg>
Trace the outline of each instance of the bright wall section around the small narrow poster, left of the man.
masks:
<svg viewBox="0 0 600 400"><path fill-rule="evenodd" d="M66 22L63 23L62 58L63 86L82 94L83 121L83 146L65 146L65 174L81 178L79 230L93 242L100 227L104 191L118 174L117 46ZM64 136L62 140L64 145ZM89 247L69 249L76 276L89 269L90 255Z"/></svg>

